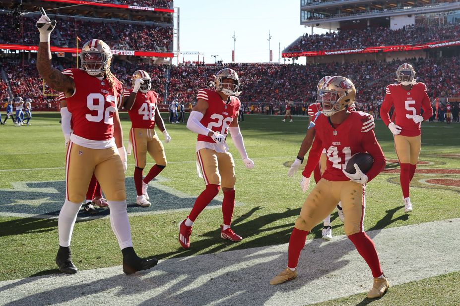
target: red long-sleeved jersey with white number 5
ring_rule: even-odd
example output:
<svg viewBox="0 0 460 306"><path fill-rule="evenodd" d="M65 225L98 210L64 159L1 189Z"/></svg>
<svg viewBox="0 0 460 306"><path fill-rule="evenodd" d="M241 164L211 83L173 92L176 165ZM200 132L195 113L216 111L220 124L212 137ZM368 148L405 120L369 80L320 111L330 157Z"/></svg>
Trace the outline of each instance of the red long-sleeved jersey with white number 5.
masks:
<svg viewBox="0 0 460 306"><path fill-rule="evenodd" d="M403 89L400 84L387 86L385 99L380 108L380 116L386 125L390 124L388 112L392 105L396 115L394 124L402 128L399 134L402 136L420 135L420 123L415 123L412 119L415 115L420 115L420 108L423 108L424 120L433 115L425 83L415 83L409 91Z"/></svg>

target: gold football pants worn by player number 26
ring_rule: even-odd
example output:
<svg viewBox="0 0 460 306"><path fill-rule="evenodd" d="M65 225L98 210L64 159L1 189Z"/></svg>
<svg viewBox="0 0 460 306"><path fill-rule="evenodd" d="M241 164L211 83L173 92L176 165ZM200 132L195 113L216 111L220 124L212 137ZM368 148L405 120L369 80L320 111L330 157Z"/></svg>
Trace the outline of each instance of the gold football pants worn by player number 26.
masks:
<svg viewBox="0 0 460 306"><path fill-rule="evenodd" d="M217 153L205 148L197 152L197 158L206 185L235 186L235 162L230 152Z"/></svg>

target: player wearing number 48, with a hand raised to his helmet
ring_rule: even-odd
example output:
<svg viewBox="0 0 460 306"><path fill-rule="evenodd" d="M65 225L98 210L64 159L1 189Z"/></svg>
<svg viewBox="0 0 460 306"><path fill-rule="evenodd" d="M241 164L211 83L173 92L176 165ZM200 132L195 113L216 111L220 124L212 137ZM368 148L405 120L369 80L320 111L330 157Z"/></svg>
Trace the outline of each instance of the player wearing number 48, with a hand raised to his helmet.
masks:
<svg viewBox="0 0 460 306"><path fill-rule="evenodd" d="M132 89L123 93L124 105L131 119L130 143L134 149L134 185L136 186L136 204L142 207L150 206L147 194L148 183L160 173L167 164L165 149L153 129L155 123L169 143L169 136L157 107L158 94L150 90L151 79L144 70L132 74ZM138 93L140 91L140 93ZM142 180L142 171L147 163L147 152L155 160L155 165Z"/></svg>

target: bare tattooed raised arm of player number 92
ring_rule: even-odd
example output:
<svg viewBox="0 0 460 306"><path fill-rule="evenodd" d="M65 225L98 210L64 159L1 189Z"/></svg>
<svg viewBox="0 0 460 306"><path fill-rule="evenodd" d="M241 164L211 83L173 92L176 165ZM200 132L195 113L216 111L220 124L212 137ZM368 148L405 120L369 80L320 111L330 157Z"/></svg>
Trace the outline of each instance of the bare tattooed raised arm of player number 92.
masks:
<svg viewBox="0 0 460 306"><path fill-rule="evenodd" d="M37 70L46 84L60 92L69 92L74 89L73 80L51 66L51 51L49 43L40 43L37 54Z"/></svg>

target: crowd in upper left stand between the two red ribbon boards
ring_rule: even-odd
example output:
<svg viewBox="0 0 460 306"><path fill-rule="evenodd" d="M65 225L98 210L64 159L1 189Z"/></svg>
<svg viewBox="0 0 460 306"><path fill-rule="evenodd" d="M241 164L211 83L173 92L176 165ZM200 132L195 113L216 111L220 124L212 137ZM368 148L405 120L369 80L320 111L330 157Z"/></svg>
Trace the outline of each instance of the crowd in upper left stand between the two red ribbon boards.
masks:
<svg viewBox="0 0 460 306"><path fill-rule="evenodd" d="M81 21L71 17L54 18L59 23L59 33L55 42L60 47L75 47L76 37L79 46L93 37L104 37L104 41L115 50L171 51L173 28L143 24L118 22ZM11 31L8 25L14 17L0 14L0 43L36 45L36 20L34 17L22 18L22 29Z"/></svg>

